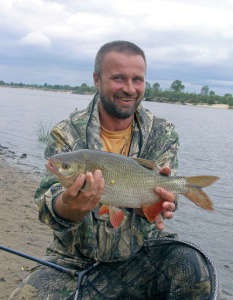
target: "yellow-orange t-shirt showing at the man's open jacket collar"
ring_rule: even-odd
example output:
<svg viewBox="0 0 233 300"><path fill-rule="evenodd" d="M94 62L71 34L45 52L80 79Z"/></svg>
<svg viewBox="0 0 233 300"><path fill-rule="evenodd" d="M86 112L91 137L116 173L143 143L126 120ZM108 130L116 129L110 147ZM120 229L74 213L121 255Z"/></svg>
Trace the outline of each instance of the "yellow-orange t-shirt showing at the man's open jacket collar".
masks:
<svg viewBox="0 0 233 300"><path fill-rule="evenodd" d="M104 151L128 156L132 140L132 124L119 131L109 131L102 126L100 137Z"/></svg>

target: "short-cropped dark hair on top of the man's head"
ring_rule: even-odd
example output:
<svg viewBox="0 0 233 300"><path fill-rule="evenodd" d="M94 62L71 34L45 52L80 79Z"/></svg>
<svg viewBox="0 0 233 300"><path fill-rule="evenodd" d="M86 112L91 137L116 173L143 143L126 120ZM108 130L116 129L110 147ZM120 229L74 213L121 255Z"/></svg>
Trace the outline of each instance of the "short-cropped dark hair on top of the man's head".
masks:
<svg viewBox="0 0 233 300"><path fill-rule="evenodd" d="M101 75L101 67L102 67L104 56L111 51L127 53L132 55L141 55L146 64L145 53L136 44L128 41L113 41L104 44L96 54L94 71L97 74L97 76L100 77Z"/></svg>

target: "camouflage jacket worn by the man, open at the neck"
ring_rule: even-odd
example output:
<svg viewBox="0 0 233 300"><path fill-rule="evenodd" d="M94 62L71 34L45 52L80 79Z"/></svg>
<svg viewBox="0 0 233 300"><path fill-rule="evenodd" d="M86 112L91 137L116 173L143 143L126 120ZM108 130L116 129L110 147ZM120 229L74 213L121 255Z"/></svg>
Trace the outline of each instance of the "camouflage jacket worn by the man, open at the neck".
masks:
<svg viewBox="0 0 233 300"><path fill-rule="evenodd" d="M52 129L46 157L81 148L103 150L98 101L96 95L85 110L74 111ZM168 165L174 174L178 150L174 126L156 118L142 105L135 113L133 125L129 156L150 159L159 166ZM56 179L47 175L35 193L39 219L53 229L54 239L48 248L50 255L60 254L77 261L124 260L139 251L144 239L159 235L156 225L147 222L133 209L125 209L125 218L118 229L112 228L108 215L98 215L98 208L78 223L64 220L54 210L54 200L62 191Z"/></svg>

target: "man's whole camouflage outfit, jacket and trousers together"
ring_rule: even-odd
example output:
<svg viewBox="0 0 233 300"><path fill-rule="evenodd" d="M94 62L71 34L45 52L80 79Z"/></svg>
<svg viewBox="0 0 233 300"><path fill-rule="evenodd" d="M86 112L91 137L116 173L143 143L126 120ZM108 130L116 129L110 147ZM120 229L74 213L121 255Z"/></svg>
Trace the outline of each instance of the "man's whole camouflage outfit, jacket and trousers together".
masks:
<svg viewBox="0 0 233 300"><path fill-rule="evenodd" d="M73 112L52 129L46 157L85 148L103 150L98 101L97 94L87 109ZM154 160L160 167L168 165L174 175L178 146L174 126L140 105L129 156ZM208 270L195 250L148 244L146 241L158 241L162 233L133 209L125 209L126 217L118 229L112 228L109 215L99 216L99 208L79 222L64 220L54 210L54 201L62 191L55 177L47 175L35 201L39 219L54 234L46 253L49 261L79 271L100 263L84 276L79 299L209 299ZM40 266L10 299L73 299L76 287L77 278Z"/></svg>

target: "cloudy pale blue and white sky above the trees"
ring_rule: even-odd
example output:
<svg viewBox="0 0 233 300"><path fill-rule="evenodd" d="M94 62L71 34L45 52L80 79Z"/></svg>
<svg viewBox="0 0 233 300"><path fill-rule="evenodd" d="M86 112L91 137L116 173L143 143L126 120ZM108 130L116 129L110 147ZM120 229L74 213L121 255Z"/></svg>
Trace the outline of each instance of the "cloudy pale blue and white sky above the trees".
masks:
<svg viewBox="0 0 233 300"><path fill-rule="evenodd" d="M7 0L0 8L0 80L93 85L106 42L147 57L146 80L233 94L232 0Z"/></svg>

